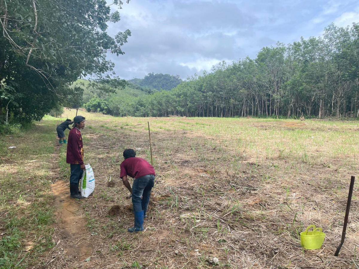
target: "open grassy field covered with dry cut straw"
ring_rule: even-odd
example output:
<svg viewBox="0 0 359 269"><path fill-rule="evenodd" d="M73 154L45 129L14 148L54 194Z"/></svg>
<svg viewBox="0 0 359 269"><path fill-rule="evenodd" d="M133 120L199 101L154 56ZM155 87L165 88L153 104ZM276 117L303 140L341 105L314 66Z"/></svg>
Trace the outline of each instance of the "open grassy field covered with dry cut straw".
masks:
<svg viewBox="0 0 359 269"><path fill-rule="evenodd" d="M71 242L60 240L66 231L54 217L51 182L68 180L69 167L65 146L55 146L60 120L45 117L0 138L0 267L211 268L206 259L215 256L218 268L358 268L358 181L334 257L350 176L358 175L358 122L79 114L96 190L72 203L87 231L80 243L92 254L71 256ZM157 180L147 230L133 235L119 167L125 148L150 160L147 121ZM109 216L114 205L120 210ZM300 247L311 224L326 233L319 250Z"/></svg>

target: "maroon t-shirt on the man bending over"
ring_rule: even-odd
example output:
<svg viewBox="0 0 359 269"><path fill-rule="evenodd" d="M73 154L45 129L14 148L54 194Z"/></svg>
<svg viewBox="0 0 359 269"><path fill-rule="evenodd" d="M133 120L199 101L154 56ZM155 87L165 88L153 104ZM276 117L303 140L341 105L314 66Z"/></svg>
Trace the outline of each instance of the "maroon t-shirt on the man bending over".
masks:
<svg viewBox="0 0 359 269"><path fill-rule="evenodd" d="M131 178L142 178L146 175L156 175L156 173L148 161L139 157L130 157L121 163L120 178L127 175L131 176Z"/></svg>

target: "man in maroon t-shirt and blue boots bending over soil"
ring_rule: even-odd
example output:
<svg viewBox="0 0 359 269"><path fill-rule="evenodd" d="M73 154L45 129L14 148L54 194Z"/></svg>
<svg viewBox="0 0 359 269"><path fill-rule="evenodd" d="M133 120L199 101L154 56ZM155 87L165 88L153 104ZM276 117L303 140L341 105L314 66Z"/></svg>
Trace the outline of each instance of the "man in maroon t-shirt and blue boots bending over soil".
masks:
<svg viewBox="0 0 359 269"><path fill-rule="evenodd" d="M120 178L132 195L135 215L135 225L127 231L140 232L144 230L143 219L147 217L146 212L156 175L155 169L148 161L136 157L136 152L132 149L123 151L123 157L125 160L121 163ZM134 179L132 188L127 180L127 175Z"/></svg>

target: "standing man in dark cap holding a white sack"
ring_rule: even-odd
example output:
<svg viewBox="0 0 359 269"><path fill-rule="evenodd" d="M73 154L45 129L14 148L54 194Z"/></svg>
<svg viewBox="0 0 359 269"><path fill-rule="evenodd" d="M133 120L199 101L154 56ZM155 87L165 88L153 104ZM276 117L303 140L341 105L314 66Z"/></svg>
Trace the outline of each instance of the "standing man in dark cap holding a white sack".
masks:
<svg viewBox="0 0 359 269"><path fill-rule="evenodd" d="M69 133L67 143L66 162L70 164L70 195L71 198L82 199L85 198L79 193L79 181L84 173L84 150L82 143L82 136L80 129L85 127L85 118L76 116L74 118L74 128Z"/></svg>

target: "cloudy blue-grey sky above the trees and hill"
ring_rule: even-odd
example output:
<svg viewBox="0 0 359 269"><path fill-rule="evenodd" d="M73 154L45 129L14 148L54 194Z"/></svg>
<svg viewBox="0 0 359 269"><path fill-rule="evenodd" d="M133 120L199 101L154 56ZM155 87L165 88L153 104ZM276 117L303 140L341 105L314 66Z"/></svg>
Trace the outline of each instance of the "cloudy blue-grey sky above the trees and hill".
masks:
<svg viewBox="0 0 359 269"><path fill-rule="evenodd" d="M332 22L359 22L359 1L131 0L120 13L109 34L130 29L132 36L123 46L125 55L108 55L116 75L132 79L154 72L186 79L223 60L255 58L278 41L320 36Z"/></svg>

